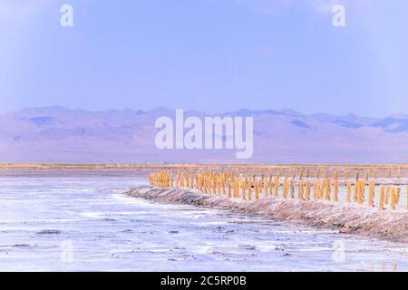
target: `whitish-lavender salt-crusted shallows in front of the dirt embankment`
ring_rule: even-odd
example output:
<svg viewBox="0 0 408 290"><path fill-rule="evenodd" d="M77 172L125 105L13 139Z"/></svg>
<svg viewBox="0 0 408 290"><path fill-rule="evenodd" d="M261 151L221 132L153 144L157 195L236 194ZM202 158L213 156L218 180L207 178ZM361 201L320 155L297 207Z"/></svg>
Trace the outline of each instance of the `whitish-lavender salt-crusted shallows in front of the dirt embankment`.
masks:
<svg viewBox="0 0 408 290"><path fill-rule="evenodd" d="M146 182L0 175L0 270L408 270L407 245L123 195Z"/></svg>

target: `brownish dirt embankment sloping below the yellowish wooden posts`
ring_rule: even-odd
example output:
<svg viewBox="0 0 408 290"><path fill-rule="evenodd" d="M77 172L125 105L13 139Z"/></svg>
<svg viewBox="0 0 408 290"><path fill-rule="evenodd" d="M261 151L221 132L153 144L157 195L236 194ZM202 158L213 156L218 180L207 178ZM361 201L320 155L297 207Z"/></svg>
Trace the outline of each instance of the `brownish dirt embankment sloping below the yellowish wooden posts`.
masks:
<svg viewBox="0 0 408 290"><path fill-rule="evenodd" d="M206 208L218 208L296 225L335 228L341 233L378 237L408 243L408 212L378 212L377 208L325 201L299 201L261 198L257 202L203 195L195 189L157 189L139 187L129 196L163 202L175 202Z"/></svg>

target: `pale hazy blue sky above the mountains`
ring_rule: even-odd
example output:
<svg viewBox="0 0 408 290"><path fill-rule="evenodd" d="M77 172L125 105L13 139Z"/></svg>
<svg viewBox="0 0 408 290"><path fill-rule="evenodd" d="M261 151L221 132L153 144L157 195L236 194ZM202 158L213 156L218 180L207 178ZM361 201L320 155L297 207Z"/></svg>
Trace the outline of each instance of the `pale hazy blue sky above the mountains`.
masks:
<svg viewBox="0 0 408 290"><path fill-rule="evenodd" d="M0 0L0 111L408 113L407 30L406 0Z"/></svg>

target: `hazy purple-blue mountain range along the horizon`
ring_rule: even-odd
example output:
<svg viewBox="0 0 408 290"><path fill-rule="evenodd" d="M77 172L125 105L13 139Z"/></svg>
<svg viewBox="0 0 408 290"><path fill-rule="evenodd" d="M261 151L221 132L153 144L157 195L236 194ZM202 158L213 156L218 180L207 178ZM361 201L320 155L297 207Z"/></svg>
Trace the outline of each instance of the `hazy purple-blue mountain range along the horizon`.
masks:
<svg viewBox="0 0 408 290"><path fill-rule="evenodd" d="M187 116L209 116L187 111ZM160 116L175 111L29 108L0 114L0 162L63 163L408 163L408 115L383 119L292 110L238 110L254 117L254 155L235 150L158 150Z"/></svg>

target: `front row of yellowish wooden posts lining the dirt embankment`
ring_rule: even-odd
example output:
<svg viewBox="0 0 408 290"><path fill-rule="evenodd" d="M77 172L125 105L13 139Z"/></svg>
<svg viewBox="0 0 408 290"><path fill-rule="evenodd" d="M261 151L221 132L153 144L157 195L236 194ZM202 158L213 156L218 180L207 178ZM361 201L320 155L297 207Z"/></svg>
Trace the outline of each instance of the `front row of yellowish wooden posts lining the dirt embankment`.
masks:
<svg viewBox="0 0 408 290"><path fill-rule="evenodd" d="M306 174L308 176L308 172ZM348 179L348 173L345 172L345 202L367 204L374 207L375 202L375 182L368 183L368 198L366 199L367 180L360 180L358 174L355 176L355 182ZM303 179L303 172L297 179L297 193L295 176L288 179L287 176L281 181L280 176L273 177L269 175L267 179L264 172L260 177L253 175L248 177L247 174L235 174L234 172L203 171L189 172L179 171L160 171L151 173L149 176L151 186L158 188L188 188L199 189L202 193L223 195L228 198L242 198L243 200L258 200L259 197L279 197L279 189L282 187L282 198L297 198L299 200L325 199L327 201L339 202L339 180L338 175L334 173L334 179L325 177L323 179ZM333 190L332 190L333 188ZM408 194L408 185L406 186ZM333 194L332 194L333 191ZM401 189L393 188L388 185L380 186L380 197L378 202L379 210L384 209L384 205L390 205L396 209L401 198ZM406 202L408 209L408 197Z"/></svg>

